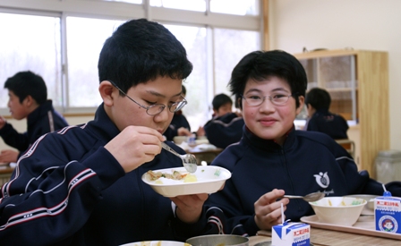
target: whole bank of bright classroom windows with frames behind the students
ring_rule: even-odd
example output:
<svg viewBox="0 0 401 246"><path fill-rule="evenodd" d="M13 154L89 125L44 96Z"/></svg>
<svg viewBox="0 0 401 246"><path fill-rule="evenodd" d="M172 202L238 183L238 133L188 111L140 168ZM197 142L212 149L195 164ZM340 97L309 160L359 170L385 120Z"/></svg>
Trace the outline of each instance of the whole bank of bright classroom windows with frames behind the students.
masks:
<svg viewBox="0 0 401 246"><path fill-rule="evenodd" d="M214 95L229 94L226 85L235 64L260 49L259 1L240 2L81 0L71 5L36 0L32 10L28 10L30 0L13 2L15 8L2 9L0 4L0 28L5 34L0 38L0 83L15 72L31 70L45 79L48 98L59 112L94 113L102 101L98 55L103 43L124 21L148 18L175 34L193 64L192 74L183 81L189 101L183 114L196 131L210 119ZM0 89L0 115L9 115L7 101L6 90Z"/></svg>

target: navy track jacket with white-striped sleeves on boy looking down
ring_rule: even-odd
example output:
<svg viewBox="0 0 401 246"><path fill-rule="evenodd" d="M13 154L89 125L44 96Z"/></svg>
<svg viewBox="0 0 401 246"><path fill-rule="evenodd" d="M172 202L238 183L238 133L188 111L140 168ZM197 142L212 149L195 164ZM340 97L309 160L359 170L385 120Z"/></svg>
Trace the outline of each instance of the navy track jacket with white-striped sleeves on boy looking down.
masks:
<svg viewBox="0 0 401 246"><path fill-rule="evenodd" d="M205 220L183 224L172 201L141 180L148 170L181 167L181 159L162 150L125 174L104 148L118 133L101 105L94 121L40 137L2 187L0 244L120 245L198 235Z"/></svg>

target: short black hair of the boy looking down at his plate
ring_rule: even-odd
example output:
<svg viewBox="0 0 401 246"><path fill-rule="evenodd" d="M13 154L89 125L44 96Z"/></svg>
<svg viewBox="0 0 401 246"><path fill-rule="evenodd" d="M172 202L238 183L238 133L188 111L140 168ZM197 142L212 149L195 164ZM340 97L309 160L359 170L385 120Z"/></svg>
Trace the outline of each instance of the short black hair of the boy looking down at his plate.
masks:
<svg viewBox="0 0 401 246"><path fill-rule="evenodd" d="M107 38L98 59L99 81L126 92L159 76L183 80L192 64L180 41L163 25L146 19L124 22Z"/></svg>

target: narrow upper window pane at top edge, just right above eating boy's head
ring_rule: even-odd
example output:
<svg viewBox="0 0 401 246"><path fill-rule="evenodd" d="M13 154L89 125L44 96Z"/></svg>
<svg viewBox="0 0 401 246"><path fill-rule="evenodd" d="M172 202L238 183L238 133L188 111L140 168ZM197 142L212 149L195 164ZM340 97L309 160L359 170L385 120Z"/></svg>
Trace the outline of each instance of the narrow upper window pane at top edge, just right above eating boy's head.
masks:
<svg viewBox="0 0 401 246"><path fill-rule="evenodd" d="M179 10L206 11L205 0L150 0L150 6Z"/></svg>

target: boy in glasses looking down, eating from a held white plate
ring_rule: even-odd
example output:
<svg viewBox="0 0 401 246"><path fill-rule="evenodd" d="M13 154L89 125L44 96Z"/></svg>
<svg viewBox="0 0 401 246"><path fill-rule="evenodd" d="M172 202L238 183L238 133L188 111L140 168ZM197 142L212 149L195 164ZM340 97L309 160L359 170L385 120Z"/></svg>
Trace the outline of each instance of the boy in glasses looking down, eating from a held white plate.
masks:
<svg viewBox="0 0 401 246"><path fill-rule="evenodd" d="M183 45L161 24L119 26L98 58L103 103L94 120L40 137L4 184L1 244L185 242L205 230L208 194L166 198L141 180L183 166L161 142L186 104L181 85L191 72Z"/></svg>

